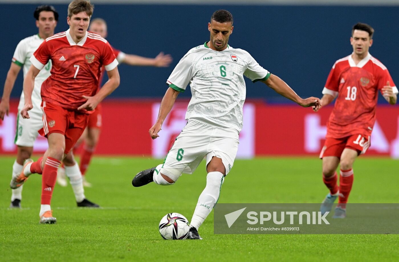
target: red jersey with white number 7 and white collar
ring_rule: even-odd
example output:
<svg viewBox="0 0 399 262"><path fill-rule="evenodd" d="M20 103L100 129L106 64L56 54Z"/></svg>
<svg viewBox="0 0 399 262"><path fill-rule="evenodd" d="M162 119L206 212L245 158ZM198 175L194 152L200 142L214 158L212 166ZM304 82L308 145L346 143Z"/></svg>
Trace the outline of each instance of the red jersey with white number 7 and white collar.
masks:
<svg viewBox="0 0 399 262"><path fill-rule="evenodd" d="M86 32L76 44L69 30L47 38L30 58L38 69L50 59L51 76L41 85L41 98L69 110L87 101L83 95L95 95L103 65L107 71L118 65L107 40Z"/></svg>

